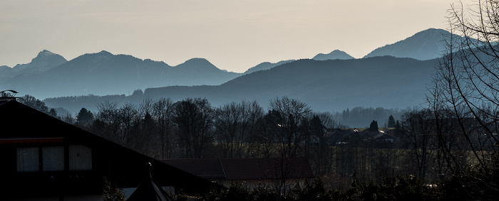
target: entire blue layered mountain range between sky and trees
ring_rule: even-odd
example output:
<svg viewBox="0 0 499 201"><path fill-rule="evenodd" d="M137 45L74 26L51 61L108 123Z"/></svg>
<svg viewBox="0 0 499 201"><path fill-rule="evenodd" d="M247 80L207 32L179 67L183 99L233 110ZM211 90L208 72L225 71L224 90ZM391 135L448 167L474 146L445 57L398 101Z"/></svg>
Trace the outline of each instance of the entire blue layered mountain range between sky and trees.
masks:
<svg viewBox="0 0 499 201"><path fill-rule="evenodd" d="M0 66L0 85L45 99L49 107L78 103L77 109L95 108L97 100L106 97L117 102L139 102L144 97L207 97L214 105L248 99L266 105L269 99L284 95L320 111L356 106L412 107L423 102L433 73L431 59L441 54L438 47L443 46L443 34L449 33L433 28L421 31L377 48L362 59L334 50L319 53L312 60L260 63L244 73L220 70L203 58L170 66L103 50L67 61L43 50L31 63ZM132 94L136 89L143 89L143 93ZM89 101L90 97L94 101ZM93 106L78 99L93 102Z"/></svg>

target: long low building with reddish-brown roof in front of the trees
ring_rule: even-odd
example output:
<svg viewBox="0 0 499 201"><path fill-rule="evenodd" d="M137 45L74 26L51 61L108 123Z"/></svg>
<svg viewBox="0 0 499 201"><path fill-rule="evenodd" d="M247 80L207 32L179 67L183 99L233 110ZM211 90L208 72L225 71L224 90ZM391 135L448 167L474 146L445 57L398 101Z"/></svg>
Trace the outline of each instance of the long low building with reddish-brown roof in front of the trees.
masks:
<svg viewBox="0 0 499 201"><path fill-rule="evenodd" d="M259 183L271 184L276 180L296 183L314 178L308 158L197 158L161 160L187 172L230 187L232 183L245 183L256 188Z"/></svg>

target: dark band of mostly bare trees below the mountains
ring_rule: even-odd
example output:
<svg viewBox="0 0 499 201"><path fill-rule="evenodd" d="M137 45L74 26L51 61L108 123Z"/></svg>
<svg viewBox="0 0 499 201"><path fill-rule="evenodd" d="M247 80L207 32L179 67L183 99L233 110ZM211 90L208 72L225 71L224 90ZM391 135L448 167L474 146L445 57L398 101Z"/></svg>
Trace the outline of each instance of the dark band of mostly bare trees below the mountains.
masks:
<svg viewBox="0 0 499 201"><path fill-rule="evenodd" d="M50 114L32 97L20 101ZM352 173L356 180L373 183L413 175L434 184L453 178L456 168L477 165L477 159L493 160L490 147L477 147L474 152L481 155L474 157L459 128L476 122L467 119L464 124L451 110L412 109L401 119L389 116L386 121L393 127L381 130L393 141L380 141L368 135L383 134L375 120L364 131L350 129L334 114L313 112L289 97L270 100L267 110L247 101L212 107L202 98L144 99L138 105L103 102L97 108L95 114L82 108L76 118L61 119L158 159L305 156L326 189L349 190ZM494 145L478 133L468 138ZM272 188L282 195L295 187L284 177Z"/></svg>

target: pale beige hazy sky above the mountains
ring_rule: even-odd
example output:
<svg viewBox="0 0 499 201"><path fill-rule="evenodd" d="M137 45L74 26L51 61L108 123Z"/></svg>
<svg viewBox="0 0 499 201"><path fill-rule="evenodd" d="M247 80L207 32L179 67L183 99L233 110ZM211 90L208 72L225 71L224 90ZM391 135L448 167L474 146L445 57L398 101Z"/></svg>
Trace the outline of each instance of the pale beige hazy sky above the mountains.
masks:
<svg viewBox="0 0 499 201"><path fill-rule="evenodd" d="M244 72L343 50L361 58L427 28L456 0L0 0L0 65L43 49L67 60L107 50L178 65L206 58Z"/></svg>

